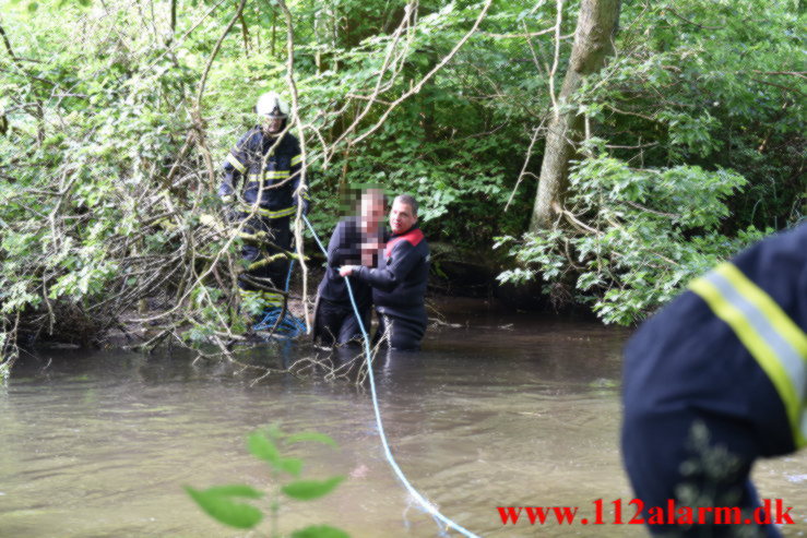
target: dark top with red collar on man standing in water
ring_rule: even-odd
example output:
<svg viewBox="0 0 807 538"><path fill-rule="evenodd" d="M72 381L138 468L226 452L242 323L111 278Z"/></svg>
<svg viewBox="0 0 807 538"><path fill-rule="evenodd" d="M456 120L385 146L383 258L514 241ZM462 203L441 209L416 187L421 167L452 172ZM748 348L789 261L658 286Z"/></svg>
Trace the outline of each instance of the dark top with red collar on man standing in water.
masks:
<svg viewBox="0 0 807 538"><path fill-rule="evenodd" d="M378 265L359 267L354 275L372 286L372 302L381 313L410 316L425 310L429 246L417 225L387 241L384 259Z"/></svg>

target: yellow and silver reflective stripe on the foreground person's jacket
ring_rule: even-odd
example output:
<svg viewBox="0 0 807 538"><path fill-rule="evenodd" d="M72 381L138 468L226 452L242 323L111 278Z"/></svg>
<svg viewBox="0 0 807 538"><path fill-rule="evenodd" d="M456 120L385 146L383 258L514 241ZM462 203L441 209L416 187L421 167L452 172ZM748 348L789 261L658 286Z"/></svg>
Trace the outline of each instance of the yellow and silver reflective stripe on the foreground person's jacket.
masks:
<svg viewBox="0 0 807 538"><path fill-rule="evenodd" d="M732 327L768 374L787 410L796 446L807 444L807 335L764 290L731 263L717 266L689 287Z"/></svg>

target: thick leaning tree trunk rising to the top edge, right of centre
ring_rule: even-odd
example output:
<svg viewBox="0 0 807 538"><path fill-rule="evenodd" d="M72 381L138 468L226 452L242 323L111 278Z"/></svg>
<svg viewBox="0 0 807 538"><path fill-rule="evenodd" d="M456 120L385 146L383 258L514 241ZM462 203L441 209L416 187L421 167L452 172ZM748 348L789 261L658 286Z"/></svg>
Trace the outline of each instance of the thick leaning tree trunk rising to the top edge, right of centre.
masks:
<svg viewBox="0 0 807 538"><path fill-rule="evenodd" d="M585 75L600 71L606 57L613 52L612 37L619 21L619 0L582 1L569 68L557 99L558 107L577 92ZM577 110L554 110L546 134L544 162L541 165L530 231L553 227L555 207L562 204L569 163L574 157L582 130L583 117Z"/></svg>

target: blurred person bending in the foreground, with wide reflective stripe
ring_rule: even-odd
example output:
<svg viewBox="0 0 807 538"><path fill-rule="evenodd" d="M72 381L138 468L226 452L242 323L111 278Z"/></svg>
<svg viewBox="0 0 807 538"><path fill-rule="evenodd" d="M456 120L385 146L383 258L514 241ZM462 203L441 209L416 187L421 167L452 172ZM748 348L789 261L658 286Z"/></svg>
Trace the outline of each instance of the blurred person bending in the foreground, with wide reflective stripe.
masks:
<svg viewBox="0 0 807 538"><path fill-rule="evenodd" d="M628 343L622 452L653 534L776 537L771 522L792 521L786 499L760 509L749 475L807 439L806 330L802 224L695 280ZM649 517L670 503L672 524ZM710 510L699 523L686 506Z"/></svg>

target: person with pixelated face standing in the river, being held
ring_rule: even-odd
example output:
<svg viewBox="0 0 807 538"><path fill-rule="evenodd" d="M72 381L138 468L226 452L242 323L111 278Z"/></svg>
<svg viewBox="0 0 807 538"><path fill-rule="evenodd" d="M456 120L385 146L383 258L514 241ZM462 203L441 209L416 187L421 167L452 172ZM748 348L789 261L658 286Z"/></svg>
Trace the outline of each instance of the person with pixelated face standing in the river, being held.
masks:
<svg viewBox="0 0 807 538"><path fill-rule="evenodd" d="M341 346L361 339L358 319L339 268L346 264L376 265L385 239L383 214L383 192L368 189L361 194L359 216L342 219L333 230L328 243L328 268L319 286L313 316L313 339L323 346ZM365 327L369 327L372 290L367 283L355 278L351 284L361 321Z"/></svg>

